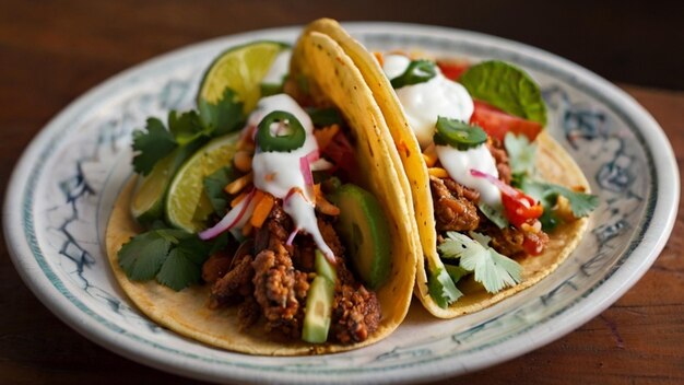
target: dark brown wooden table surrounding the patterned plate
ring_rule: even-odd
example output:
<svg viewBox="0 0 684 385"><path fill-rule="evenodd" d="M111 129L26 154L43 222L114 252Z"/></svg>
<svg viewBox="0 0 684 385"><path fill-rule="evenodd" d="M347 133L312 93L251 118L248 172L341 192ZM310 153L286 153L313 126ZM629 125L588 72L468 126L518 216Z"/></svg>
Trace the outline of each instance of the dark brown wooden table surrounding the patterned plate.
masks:
<svg viewBox="0 0 684 385"><path fill-rule="evenodd" d="M276 1L0 3L0 185L32 137L70 101L161 52L240 31L321 14L380 19ZM258 16L255 16L258 15ZM397 16L396 19L399 19ZM425 20L418 20L428 23ZM444 24L444 23L443 23ZM684 93L621 84L684 151ZM677 163L682 159L677 156ZM465 384L684 383L684 211L653 267L625 296L576 331L529 354L465 375ZM2 237L2 235L0 235ZM0 383L187 384L118 357L62 324L19 278L0 241ZM444 382L444 384L451 382Z"/></svg>

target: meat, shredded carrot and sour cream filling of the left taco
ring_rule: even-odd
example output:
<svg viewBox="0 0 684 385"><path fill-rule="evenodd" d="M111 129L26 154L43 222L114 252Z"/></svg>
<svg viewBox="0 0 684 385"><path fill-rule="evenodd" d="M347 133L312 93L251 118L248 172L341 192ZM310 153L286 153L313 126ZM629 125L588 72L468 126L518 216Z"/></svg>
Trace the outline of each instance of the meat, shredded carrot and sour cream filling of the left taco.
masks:
<svg viewBox="0 0 684 385"><path fill-rule="evenodd" d="M334 109L329 112L337 116ZM340 183L330 179L331 172L353 163L353 150L341 126L339 120L315 128L310 116L287 94L260 100L247 119L233 165L240 163L244 175L226 186L235 206L214 226L199 233L209 240L231 231L244 238L233 255L214 254L202 266L202 278L211 284L210 306L237 305L240 328L263 317L267 331L326 341L312 336L316 331L306 322L315 317L307 314L307 301L314 301L326 307L320 317L331 318L334 341L364 341L377 329L380 304L345 266L347 253L333 226L340 209L325 196ZM333 163L327 160L328 151L345 154ZM315 184L314 172L326 180ZM326 265L337 277L325 277L317 265ZM317 279L334 285L332 298L326 298L330 294L322 290L315 294L321 298L311 300Z"/></svg>

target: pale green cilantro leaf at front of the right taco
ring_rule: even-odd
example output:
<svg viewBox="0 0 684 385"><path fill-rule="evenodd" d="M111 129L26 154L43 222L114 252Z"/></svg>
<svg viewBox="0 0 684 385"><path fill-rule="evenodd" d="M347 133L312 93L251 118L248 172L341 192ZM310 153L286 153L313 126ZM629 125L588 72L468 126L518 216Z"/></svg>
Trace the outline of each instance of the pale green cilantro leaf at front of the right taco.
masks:
<svg viewBox="0 0 684 385"><path fill-rule="evenodd" d="M437 248L443 258L460 259L460 267L474 272L475 281L488 293L516 285L521 281L522 267L515 260L488 246L491 237L471 232L472 238L457 232L447 232L447 237Z"/></svg>

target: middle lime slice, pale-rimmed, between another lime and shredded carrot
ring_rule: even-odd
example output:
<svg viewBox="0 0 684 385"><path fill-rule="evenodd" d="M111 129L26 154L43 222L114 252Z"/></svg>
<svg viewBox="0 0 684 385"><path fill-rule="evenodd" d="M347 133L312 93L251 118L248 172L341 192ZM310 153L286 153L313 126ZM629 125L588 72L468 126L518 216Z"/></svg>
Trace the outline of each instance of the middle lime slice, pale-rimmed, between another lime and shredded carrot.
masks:
<svg viewBox="0 0 684 385"><path fill-rule="evenodd" d="M178 170L166 195L166 220L170 225L192 233L204 229L203 221L196 218L205 199L204 178L231 164L238 137L235 132L212 140Z"/></svg>

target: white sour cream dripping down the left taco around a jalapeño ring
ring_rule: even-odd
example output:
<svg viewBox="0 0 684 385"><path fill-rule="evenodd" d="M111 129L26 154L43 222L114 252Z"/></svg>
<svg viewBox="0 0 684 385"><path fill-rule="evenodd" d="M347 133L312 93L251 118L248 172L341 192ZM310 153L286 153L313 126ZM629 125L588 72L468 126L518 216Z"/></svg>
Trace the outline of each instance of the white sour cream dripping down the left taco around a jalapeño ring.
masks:
<svg viewBox="0 0 684 385"><path fill-rule="evenodd" d="M311 118L292 97L286 94L278 94L259 101L257 109L247 119L245 129L252 130L268 114L274 110L284 110L294 115L304 127L306 139L300 148L290 152L257 150L251 163L255 187L275 198L283 199L283 210L292 218L295 228L311 235L318 248L326 256L332 256L332 250L326 244L318 229L315 197L310 196L299 166L299 160L303 156L312 151L318 151ZM273 125L271 135L278 135L276 129L278 125Z"/></svg>

